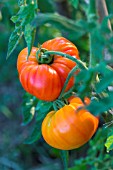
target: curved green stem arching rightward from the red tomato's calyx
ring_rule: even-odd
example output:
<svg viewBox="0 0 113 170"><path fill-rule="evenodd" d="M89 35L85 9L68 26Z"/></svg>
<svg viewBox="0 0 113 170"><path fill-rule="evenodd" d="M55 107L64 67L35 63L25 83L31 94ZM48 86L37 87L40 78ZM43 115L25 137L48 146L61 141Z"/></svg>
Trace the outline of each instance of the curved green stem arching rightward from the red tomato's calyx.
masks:
<svg viewBox="0 0 113 170"><path fill-rule="evenodd" d="M72 57L69 54L66 54L66 53L63 53L63 52L60 52L60 51L45 51L44 54L55 54L55 55L59 55L59 56L62 56L62 57L66 57L66 58L76 62L76 64L79 66L79 68L88 69L86 67L85 63L83 63L81 60L78 60L77 58Z"/></svg>

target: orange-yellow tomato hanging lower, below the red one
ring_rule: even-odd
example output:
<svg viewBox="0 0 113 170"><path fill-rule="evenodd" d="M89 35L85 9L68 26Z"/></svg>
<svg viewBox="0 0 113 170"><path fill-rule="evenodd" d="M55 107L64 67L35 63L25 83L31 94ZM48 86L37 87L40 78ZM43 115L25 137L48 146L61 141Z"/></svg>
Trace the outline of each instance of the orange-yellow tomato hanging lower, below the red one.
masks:
<svg viewBox="0 0 113 170"><path fill-rule="evenodd" d="M75 97L69 105L47 114L42 123L42 135L50 146L71 150L90 140L97 130L99 120L83 108L77 110L82 106L82 100Z"/></svg>

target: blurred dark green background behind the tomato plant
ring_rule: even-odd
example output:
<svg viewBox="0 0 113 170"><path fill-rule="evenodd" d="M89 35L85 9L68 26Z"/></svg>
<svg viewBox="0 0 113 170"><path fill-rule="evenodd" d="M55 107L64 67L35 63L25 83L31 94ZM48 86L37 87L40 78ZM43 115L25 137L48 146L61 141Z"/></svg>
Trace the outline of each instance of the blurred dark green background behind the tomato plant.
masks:
<svg viewBox="0 0 113 170"><path fill-rule="evenodd" d="M57 12L67 18L77 20L85 18L84 12L71 6L66 0L39 0L39 11ZM82 1L83 2L83 1ZM109 11L113 9L107 1ZM24 90L18 80L16 61L18 53L26 47L22 39L10 58L6 60L8 39L14 30L10 18L19 10L15 0L0 1L0 170L62 170L59 152L49 147L43 139L32 145L25 145L30 128L22 123L22 97ZM37 28L35 45L54 38L65 36L76 43L83 60L88 60L89 44L87 35L74 41L73 35L66 30L60 30L51 24ZM76 35L75 35L76 36ZM32 124L31 124L32 126ZM113 153L106 153L104 143L107 129L99 128L93 140L80 149L70 151L70 170L113 170Z"/></svg>

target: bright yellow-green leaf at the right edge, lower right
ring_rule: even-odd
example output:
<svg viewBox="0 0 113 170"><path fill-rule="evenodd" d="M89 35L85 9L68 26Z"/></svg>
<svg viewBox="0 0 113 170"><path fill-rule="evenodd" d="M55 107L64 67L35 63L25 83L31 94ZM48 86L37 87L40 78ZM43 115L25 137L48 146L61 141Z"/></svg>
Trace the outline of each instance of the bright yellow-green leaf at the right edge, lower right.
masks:
<svg viewBox="0 0 113 170"><path fill-rule="evenodd" d="M113 130L112 129L108 135L105 146L107 148L107 152L109 152L110 150L113 150Z"/></svg>

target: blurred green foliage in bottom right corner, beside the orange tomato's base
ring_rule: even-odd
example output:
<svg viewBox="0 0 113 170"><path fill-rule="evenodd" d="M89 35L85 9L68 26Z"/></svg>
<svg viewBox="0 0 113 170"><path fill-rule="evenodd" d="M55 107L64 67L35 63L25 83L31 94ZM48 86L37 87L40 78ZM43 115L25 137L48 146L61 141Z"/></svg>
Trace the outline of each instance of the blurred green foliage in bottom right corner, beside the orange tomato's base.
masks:
<svg viewBox="0 0 113 170"><path fill-rule="evenodd" d="M101 136L101 139L100 139ZM113 167L112 156L108 153L104 154L104 142L107 137L107 130L99 129L93 140L89 142L89 150L87 151L87 157L75 160L75 166L69 168L69 170L87 170L88 168L93 170L104 169L107 170ZM103 164L104 161L104 164Z"/></svg>

